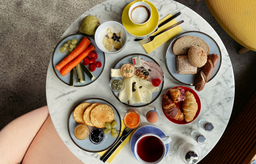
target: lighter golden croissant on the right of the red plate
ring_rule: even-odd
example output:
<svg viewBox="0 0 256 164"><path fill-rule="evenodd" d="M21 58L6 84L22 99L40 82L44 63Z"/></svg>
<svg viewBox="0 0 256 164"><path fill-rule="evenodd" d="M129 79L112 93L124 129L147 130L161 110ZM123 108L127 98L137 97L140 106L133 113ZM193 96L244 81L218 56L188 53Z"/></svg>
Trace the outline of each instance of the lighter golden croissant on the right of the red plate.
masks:
<svg viewBox="0 0 256 164"><path fill-rule="evenodd" d="M183 101L182 110L187 122L192 121L198 109L194 95L188 90L185 91L186 99Z"/></svg>

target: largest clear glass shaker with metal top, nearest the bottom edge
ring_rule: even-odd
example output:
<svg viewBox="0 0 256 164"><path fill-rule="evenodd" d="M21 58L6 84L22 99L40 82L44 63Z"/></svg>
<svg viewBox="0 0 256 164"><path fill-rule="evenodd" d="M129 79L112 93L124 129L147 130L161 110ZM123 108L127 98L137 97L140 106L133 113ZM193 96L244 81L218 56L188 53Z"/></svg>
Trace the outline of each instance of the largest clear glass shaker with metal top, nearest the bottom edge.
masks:
<svg viewBox="0 0 256 164"><path fill-rule="evenodd" d="M183 143L178 148L180 159L186 164L196 163L199 159L199 152L195 145L191 143Z"/></svg>

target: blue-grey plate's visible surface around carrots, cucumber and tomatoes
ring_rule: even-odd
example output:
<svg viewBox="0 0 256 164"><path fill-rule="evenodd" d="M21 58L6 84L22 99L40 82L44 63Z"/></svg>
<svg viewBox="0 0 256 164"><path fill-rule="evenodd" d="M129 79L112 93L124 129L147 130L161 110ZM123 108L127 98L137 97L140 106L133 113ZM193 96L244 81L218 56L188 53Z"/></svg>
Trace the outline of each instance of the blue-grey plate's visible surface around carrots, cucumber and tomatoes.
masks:
<svg viewBox="0 0 256 164"><path fill-rule="evenodd" d="M105 54L104 52L102 52L96 45L95 40L88 35L85 34L71 34L69 36L66 36L65 38L63 38L55 47L54 51L53 51L53 55L52 55L52 67L53 67L53 71L56 74L56 76L65 84L69 85L69 81L70 81L70 72L65 75L62 76L60 74L60 71L55 69L55 66L61 62L61 60L63 60L68 54L69 52L66 51L65 53L61 53L60 52L60 48L67 43L68 40L72 40L72 39L77 39L78 43L80 42L80 40L82 40L82 38L86 36L90 41L91 44L93 44L93 46L95 47L94 52L96 52L96 54L98 55L98 58L96 59L96 61L101 62L102 66L100 68L95 69L95 71L93 71L93 75L94 75L94 79L91 80L86 74L85 74L85 82L84 83L76 83L76 79L74 77L74 87L81 87L81 86L86 86L89 85L90 83L93 83L94 81L96 81L98 79L98 77L101 75L103 68L105 66ZM82 62L81 62L82 63ZM86 66L88 68L88 66Z"/></svg>

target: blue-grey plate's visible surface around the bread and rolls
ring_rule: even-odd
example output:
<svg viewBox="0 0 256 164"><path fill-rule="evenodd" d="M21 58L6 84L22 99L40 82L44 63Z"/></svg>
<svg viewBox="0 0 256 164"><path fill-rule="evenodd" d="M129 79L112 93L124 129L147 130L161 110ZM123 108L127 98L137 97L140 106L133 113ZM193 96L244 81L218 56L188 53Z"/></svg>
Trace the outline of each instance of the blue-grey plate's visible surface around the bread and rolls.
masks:
<svg viewBox="0 0 256 164"><path fill-rule="evenodd" d="M215 75L217 75L219 68L221 67L221 50L219 49L218 44L215 42L214 39L211 38L211 36L204 34L203 32L199 32L199 31L187 31L184 32L180 35L177 35L168 45L167 49L166 49L166 53L165 53L165 65L166 68L169 72L169 74L178 82L185 84L185 85L189 85L189 86L195 86L195 80L197 77L197 74L200 71L200 68L197 68L197 74L178 74L177 72L177 67L176 67L176 56L173 54L172 51L172 46L173 43L181 38L182 36L186 36L186 35L192 35L192 36L197 36L198 38L201 38L204 40L204 42L206 42L210 48L210 54L217 54L219 56L219 60L218 63L209 79L209 81L211 81L211 79L213 79L215 77ZM208 81L208 82L209 82Z"/></svg>

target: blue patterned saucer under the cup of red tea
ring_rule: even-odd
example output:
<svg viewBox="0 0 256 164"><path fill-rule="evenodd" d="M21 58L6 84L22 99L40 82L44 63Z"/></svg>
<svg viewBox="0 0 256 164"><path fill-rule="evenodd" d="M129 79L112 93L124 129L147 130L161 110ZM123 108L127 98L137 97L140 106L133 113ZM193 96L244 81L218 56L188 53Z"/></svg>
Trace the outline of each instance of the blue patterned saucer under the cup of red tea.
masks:
<svg viewBox="0 0 256 164"><path fill-rule="evenodd" d="M135 157L135 153L134 153L135 143L136 143L136 141L138 140L138 138L140 136L142 136L143 134L146 134L146 133L154 133L154 134L157 134L159 137L165 137L166 136L165 132L163 132L163 130L157 128L156 126L147 125L147 126L140 127L139 129L137 129L133 133L133 135L131 137L131 141L130 141L130 147L131 147L132 155L134 157ZM166 157L166 155L169 152L169 143L165 144L165 147L166 147L166 154L165 154L165 157Z"/></svg>

